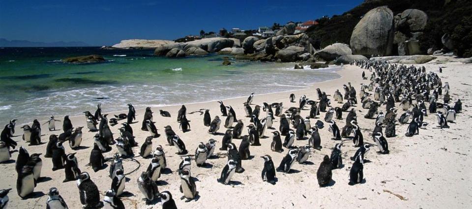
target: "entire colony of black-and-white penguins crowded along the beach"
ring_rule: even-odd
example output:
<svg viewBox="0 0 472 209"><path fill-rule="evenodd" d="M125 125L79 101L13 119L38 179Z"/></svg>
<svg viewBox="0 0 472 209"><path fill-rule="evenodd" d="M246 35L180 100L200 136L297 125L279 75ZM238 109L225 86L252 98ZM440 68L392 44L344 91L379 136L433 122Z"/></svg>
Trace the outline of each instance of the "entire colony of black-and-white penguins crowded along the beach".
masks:
<svg viewBox="0 0 472 209"><path fill-rule="evenodd" d="M225 153L228 158L225 160L225 166L221 170L221 175L206 176L205 178L214 178L224 185L232 185L231 181L234 175L245 171L243 161L253 160L254 156L260 156L261 161L261 179L269 184L275 185L278 181L277 172L291 173L294 163L306 163L311 154L323 149L323 141L326 139L337 140L339 143L332 148L331 155L324 155L316 173L319 186L330 186L332 172L335 169L343 167L343 146L353 146L357 149L354 155L347 161L351 164L349 178L345 181L349 185L362 184L365 181L363 167L366 162L366 155L370 149L377 150L378 154L389 154L388 140L394 140L395 136L405 135L412 137L419 134L419 129L426 129L428 125L423 119L428 114L436 115L438 119L437 127L448 128L449 124L455 121L456 114L461 113L462 103L460 99L452 104L450 87L447 82L442 84L438 74L426 72L424 67L416 68L414 66L405 66L399 64L389 64L381 61L354 61L351 65L358 66L364 71L362 78L368 84L362 84L357 94L351 83L343 85L344 95L337 90L334 92L333 101L342 104L341 107L331 107L331 99L328 94L317 89L318 98L310 99L306 95L301 95L296 101L295 94L291 93L289 98L291 103L297 103L294 107L284 108L282 102L267 103L262 106L253 105L255 93L251 93L244 106L244 116L250 118L250 124L244 124L242 120L237 119L243 113L234 111L233 107L224 105L223 101L218 101L220 113L212 113L209 110L201 109L189 114L201 113L204 115L202 120L208 127L208 135L211 138L207 142L202 141L197 146L188 146L185 139L181 139L170 125L165 126L164 140L157 139L161 137L158 132L150 107L142 121L141 131L148 132L146 139L135 139L133 129L130 124L136 121L136 111L131 104L127 104L128 113L115 115L108 119L108 114L102 114L101 105L97 105L94 114L85 111L85 122L89 132L97 132L93 139L82 139L82 129L84 127L74 127L69 116L64 116L63 120L57 120L50 116L47 127L50 131L60 131L56 129L56 122L62 122L62 133L59 135L51 134L48 142L41 139L41 124L35 119L31 126L24 125L22 139L29 143L29 146L42 146L44 153L29 154L27 147L18 148L18 157L15 163L17 172L16 191L17 195L24 199L28 198L34 192L36 184L44 184L40 180L45 178L41 176L42 169L52 169L54 172L63 172L63 182L75 181L77 183L80 202L84 208L113 208L124 209L120 197L126 192L126 174L130 168L123 166L123 161L140 157L148 159L149 164L141 167L141 175L138 179L130 181L129 184L136 182L136 186L141 191L140 195L145 198L147 204L160 202L163 209L176 209L176 202L170 191L159 191L159 178L169 167L166 161L165 153L174 150L177 155L182 157L181 163L175 175L180 179L179 192L181 199L185 202L198 198L198 184L192 176L191 165L195 163L198 167L210 167L211 162L220 159L218 154ZM368 70L370 78L365 75ZM254 106L254 108L251 107ZM428 105L428 107L426 106ZM379 108L385 106L386 112ZM261 109L262 107L262 109ZM367 113L363 116L365 120L372 121L372 133L366 133L366 129L359 127L357 117L359 109L366 109ZM397 111L404 113L397 117ZM160 110L163 117L171 117L167 111ZM343 112L345 122L343 121ZM322 113L324 114L323 116ZM177 113L179 122L179 131L183 133L191 131L190 120L186 117L187 109L184 105ZM221 117L225 117L220 118ZM310 119L323 118L324 122L317 120L311 123ZM364 120L362 119L362 120ZM113 134L109 125L118 125L122 122L118 134ZM222 120L224 124L221 125ZM278 126L274 121L278 120ZM11 153L17 148L15 125L17 120L10 120L1 132L0 140L0 163L8 163ZM320 136L319 129L323 129L325 123L328 126L332 136ZM339 124L339 126L338 126ZM341 125L344 124L344 125ZM396 127L401 125L402 129ZM98 125L98 127L97 127ZM161 125L161 124L160 124ZM403 127L407 127L406 130ZM244 130L247 128L247 130ZM226 130L224 130L226 129ZM270 131L268 129L271 129ZM245 134L247 133L247 135ZM272 134L270 150L274 153L251 153L251 146L261 146L261 139L269 133ZM216 139L218 134L223 135L221 139ZM365 137L364 137L365 136ZM233 143L234 139L240 139L239 147ZM296 141L306 140L308 143L301 146ZM81 149L83 140L93 140L93 147L90 148L89 164L79 165L75 152L66 153L64 145L72 150ZM270 139L269 139L270 140ZM371 142L372 140L372 142ZM68 143L66 143L68 141ZM142 142L139 155L135 155L133 147L139 146ZM348 141L352 141L349 145ZM215 147L220 143L221 147L216 150ZM44 145L43 145L44 144ZM168 145L167 150L163 145ZM155 148L154 148L155 147ZM188 154L188 149L195 149L194 155ZM15 150L16 151L16 150ZM103 153L114 152L111 159L105 159ZM346 152L344 152L346 153ZM251 155L252 154L252 155ZM272 161L272 155L282 155L281 162ZM44 158L50 158L53 167L43 168L41 155ZM319 156L321 158L321 156ZM194 162L195 161L195 162ZM98 188L93 182L93 174L82 172L80 167L91 166L94 172L104 169L105 164L109 162L109 176L111 186L109 188ZM13 166L13 165L12 165ZM146 168L146 169L144 169ZM131 171L134 172L134 171ZM6 209L8 206L8 193L11 188L0 188L0 208ZM103 198L100 198L102 193ZM174 191L177 193L177 191ZM46 206L48 209L67 209L67 203L60 196L59 190L52 186L48 191Z"/></svg>

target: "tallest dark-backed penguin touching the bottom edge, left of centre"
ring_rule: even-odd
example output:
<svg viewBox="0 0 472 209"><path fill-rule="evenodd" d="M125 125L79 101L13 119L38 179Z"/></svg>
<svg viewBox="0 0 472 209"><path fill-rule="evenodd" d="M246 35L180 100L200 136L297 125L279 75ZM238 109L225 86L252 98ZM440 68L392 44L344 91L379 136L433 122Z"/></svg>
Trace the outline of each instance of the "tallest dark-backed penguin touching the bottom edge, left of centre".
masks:
<svg viewBox="0 0 472 209"><path fill-rule="evenodd" d="M90 179L87 172L82 172L77 179L77 187L79 188L80 202L85 208L101 208L100 192L98 187Z"/></svg>

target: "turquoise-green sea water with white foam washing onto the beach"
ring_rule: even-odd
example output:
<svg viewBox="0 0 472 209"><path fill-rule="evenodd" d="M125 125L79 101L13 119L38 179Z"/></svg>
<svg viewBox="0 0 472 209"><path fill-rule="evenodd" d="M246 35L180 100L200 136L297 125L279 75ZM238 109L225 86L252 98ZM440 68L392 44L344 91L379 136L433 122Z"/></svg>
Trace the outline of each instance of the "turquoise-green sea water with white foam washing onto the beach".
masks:
<svg viewBox="0 0 472 209"><path fill-rule="evenodd" d="M101 54L100 64L64 64L61 58ZM119 56L118 56L119 55ZM0 119L27 123L50 115L92 113L203 102L303 89L308 84L338 78L336 68L293 70L293 63L232 60L222 55L167 59L146 50L98 48L0 49Z"/></svg>

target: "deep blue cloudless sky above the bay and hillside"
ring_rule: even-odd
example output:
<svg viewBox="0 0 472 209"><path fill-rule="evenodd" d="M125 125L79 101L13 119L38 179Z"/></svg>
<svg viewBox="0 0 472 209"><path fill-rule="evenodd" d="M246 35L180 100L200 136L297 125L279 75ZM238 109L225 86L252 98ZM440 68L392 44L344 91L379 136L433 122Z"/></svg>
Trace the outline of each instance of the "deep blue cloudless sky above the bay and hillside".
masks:
<svg viewBox="0 0 472 209"><path fill-rule="evenodd" d="M0 0L0 38L83 41L176 39L342 14L363 0Z"/></svg>

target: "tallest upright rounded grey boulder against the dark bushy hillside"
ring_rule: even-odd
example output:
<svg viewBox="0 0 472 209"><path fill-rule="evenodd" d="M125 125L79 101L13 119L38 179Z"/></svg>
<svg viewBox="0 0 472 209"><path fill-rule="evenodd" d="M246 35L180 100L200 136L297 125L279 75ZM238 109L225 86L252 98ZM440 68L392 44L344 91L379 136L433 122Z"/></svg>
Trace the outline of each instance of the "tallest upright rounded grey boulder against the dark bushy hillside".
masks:
<svg viewBox="0 0 472 209"><path fill-rule="evenodd" d="M393 36L393 13L389 8L381 6L367 12L355 25L350 45L353 54L390 55Z"/></svg>

